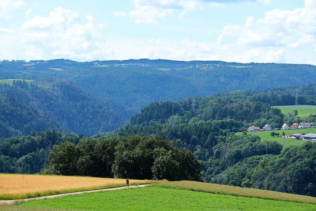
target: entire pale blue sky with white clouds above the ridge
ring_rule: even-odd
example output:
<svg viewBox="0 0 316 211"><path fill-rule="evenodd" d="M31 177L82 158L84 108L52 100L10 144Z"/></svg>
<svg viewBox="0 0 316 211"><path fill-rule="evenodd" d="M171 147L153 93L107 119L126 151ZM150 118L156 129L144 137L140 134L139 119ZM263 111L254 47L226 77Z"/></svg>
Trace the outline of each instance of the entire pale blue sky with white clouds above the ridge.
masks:
<svg viewBox="0 0 316 211"><path fill-rule="evenodd" d="M0 0L0 60L316 65L316 0Z"/></svg>

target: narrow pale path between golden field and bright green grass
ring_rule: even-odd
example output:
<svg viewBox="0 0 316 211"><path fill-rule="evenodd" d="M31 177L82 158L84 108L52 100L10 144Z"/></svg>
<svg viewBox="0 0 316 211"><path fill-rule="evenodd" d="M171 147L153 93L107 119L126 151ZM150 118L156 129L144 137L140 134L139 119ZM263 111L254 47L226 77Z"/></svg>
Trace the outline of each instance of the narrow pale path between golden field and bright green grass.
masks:
<svg viewBox="0 0 316 211"><path fill-rule="evenodd" d="M136 187L145 187L150 184L145 184L145 185L138 185ZM135 186L129 186L129 188L136 188ZM15 199L15 200L0 200L0 204L7 204L11 205L16 202L28 202L31 200L38 200L38 199L51 199L55 197L61 197L61 196L69 196L69 195L75 195L75 194L82 194L82 193L95 193L95 192L101 192L101 191L111 191L111 190L120 190L120 189L125 189L126 187L117 187L117 188L107 188L107 189L101 189L101 190L89 190L89 191L80 191L80 192L74 192L74 193L63 193L63 194L57 194L57 195L51 195L51 196L41 196L41 197L36 197L36 198L29 198L29 199Z"/></svg>

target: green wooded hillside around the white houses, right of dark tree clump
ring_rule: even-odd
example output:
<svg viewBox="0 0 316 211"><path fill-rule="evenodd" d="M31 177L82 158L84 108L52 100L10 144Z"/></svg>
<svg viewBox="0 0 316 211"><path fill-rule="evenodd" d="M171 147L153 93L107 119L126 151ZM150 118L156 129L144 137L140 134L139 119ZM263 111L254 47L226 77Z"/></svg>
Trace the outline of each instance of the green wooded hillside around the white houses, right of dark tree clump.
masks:
<svg viewBox="0 0 316 211"><path fill-rule="evenodd" d="M316 85L300 86L301 104L316 105ZM261 140L247 127L302 122L295 112L284 115L270 105L295 102L294 87L232 91L179 102L155 102L117 130L118 135L161 135L194 152L207 182L316 196L316 144L282 149ZM316 122L316 115L304 118ZM242 135L233 132L243 131Z"/></svg>

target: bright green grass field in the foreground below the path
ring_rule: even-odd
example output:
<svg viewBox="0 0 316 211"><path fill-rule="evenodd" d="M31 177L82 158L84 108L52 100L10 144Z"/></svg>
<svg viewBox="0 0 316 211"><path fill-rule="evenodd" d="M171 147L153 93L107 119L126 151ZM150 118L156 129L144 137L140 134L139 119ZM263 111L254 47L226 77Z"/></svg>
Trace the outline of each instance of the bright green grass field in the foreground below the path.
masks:
<svg viewBox="0 0 316 211"><path fill-rule="evenodd" d="M315 204L284 202L258 198L212 194L190 190L180 190L150 186L108 192L72 195L54 199L35 200L6 208L24 208L25 211L38 209L57 210L225 210L225 211L313 211ZM1 207L0 207L1 208ZM9 210L8 209L8 210Z"/></svg>

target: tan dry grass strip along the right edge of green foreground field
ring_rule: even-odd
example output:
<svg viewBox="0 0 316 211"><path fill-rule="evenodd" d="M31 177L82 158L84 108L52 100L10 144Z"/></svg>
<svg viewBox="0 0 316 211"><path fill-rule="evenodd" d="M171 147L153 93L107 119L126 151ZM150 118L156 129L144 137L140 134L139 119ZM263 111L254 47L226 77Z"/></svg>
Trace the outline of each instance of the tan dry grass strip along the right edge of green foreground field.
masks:
<svg viewBox="0 0 316 211"><path fill-rule="evenodd" d="M276 192L276 191L260 190L260 189L254 189L254 188L241 188L241 187L235 187L235 186L229 186L229 185L219 185L219 184L213 184L213 183L177 181L177 182L161 182L158 185L163 186L163 187L216 193L216 194L316 204L315 197L301 196L301 195L289 194L289 193L281 193L281 192Z"/></svg>

